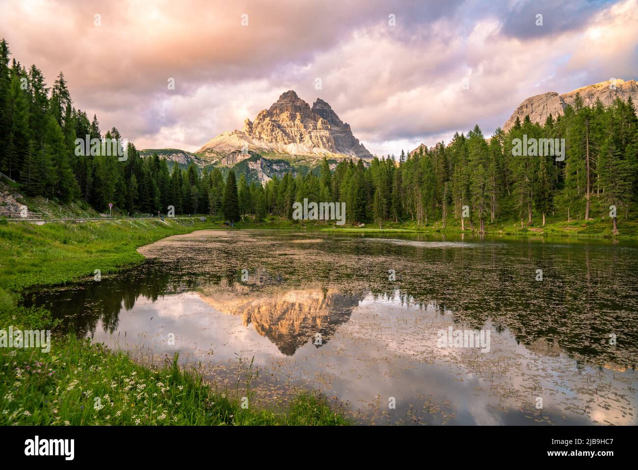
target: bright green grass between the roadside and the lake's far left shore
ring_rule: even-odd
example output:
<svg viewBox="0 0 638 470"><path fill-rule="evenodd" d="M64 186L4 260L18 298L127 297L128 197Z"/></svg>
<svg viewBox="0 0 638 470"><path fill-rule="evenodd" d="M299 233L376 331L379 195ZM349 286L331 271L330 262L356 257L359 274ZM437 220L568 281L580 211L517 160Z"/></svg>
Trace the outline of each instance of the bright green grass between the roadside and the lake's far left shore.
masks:
<svg viewBox="0 0 638 470"><path fill-rule="evenodd" d="M142 262L136 248L211 222L157 219L0 225L0 289L20 291L102 275Z"/></svg>

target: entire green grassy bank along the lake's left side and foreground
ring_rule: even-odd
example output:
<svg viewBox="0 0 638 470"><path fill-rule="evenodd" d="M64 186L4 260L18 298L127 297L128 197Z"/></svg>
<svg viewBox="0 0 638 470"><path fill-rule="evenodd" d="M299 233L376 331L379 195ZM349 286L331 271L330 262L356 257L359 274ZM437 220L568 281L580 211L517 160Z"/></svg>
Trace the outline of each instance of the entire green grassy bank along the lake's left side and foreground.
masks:
<svg viewBox="0 0 638 470"><path fill-rule="evenodd" d="M49 312L19 307L22 292L101 275L143 261L138 246L219 228L193 220L0 224L0 330L53 331L50 352L0 347L0 425L333 425L346 420L313 393L284 410L241 406L177 358L143 367L122 352L56 331Z"/></svg>

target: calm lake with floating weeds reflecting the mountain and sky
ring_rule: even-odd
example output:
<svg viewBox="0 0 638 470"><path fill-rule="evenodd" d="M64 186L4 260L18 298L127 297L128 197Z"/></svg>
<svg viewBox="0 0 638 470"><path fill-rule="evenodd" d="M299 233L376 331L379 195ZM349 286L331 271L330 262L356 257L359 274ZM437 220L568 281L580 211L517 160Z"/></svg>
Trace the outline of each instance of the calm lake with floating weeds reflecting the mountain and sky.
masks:
<svg viewBox="0 0 638 470"><path fill-rule="evenodd" d="M258 405L311 388L360 423L637 424L635 243L199 231L140 252L27 304Z"/></svg>

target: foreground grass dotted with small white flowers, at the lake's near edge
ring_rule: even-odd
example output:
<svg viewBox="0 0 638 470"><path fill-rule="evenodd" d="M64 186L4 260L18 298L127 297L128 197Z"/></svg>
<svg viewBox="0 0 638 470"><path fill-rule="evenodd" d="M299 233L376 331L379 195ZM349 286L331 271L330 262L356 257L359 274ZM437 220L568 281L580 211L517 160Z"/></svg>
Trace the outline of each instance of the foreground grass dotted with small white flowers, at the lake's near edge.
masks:
<svg viewBox="0 0 638 470"><path fill-rule="evenodd" d="M177 354L163 368L67 336L50 353L14 349L0 366L0 425L345 425L325 398L301 393L286 411L253 409L214 391Z"/></svg>

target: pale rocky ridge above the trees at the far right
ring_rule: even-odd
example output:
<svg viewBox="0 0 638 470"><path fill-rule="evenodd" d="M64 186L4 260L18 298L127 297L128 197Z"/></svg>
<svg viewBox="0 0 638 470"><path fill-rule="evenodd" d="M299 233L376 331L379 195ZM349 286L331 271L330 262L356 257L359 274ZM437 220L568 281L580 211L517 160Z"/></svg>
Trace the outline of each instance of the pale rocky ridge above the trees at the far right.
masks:
<svg viewBox="0 0 638 470"><path fill-rule="evenodd" d="M614 87L610 86L614 85ZM598 98L605 105L610 105L616 98L623 101L631 96L634 103L638 99L638 86L635 80L615 80L615 82L600 82L595 85L585 86L563 95L558 95L555 91L543 93L542 95L531 96L527 98L514 111L514 114L507 120L503 126L503 130L507 132L514 126L516 117L521 122L525 116L529 115L531 122L544 124L545 119L551 114L553 117L563 114L567 105L573 105L576 99L576 93L580 93L582 102L585 106L592 106Z"/></svg>

